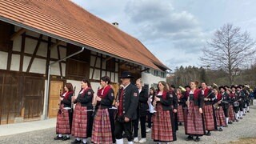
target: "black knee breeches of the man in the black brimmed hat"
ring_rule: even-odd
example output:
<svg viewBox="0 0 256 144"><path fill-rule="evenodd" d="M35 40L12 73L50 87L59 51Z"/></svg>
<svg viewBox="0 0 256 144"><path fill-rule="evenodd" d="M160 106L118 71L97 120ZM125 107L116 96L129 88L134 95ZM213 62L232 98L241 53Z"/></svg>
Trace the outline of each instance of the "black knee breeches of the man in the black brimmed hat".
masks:
<svg viewBox="0 0 256 144"><path fill-rule="evenodd" d="M123 132L125 132L124 136L122 135ZM131 121L120 122L116 120L114 127L114 136L116 139L122 139L123 137L125 137L128 139L128 142L132 142L134 140L133 123Z"/></svg>

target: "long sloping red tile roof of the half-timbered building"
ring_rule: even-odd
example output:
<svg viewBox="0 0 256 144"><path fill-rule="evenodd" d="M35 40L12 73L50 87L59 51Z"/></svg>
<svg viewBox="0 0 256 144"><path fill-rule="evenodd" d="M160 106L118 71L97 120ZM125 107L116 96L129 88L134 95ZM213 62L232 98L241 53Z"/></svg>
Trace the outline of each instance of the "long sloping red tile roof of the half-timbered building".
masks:
<svg viewBox="0 0 256 144"><path fill-rule="evenodd" d="M0 20L156 70L169 69L138 39L67 0L0 0Z"/></svg>

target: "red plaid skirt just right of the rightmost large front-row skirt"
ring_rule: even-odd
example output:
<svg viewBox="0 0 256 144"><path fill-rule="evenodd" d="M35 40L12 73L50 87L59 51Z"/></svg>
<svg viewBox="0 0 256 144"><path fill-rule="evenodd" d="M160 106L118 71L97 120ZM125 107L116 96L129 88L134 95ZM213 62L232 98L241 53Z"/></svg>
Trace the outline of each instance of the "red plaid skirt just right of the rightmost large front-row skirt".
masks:
<svg viewBox="0 0 256 144"><path fill-rule="evenodd" d="M206 130L214 130L214 109L212 105L203 106L203 118Z"/></svg>

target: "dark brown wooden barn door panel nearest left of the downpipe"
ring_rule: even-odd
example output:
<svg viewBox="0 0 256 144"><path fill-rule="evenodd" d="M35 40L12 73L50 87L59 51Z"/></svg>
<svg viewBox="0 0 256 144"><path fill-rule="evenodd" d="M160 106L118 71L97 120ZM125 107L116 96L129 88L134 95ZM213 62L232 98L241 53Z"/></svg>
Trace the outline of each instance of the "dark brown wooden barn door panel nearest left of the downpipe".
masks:
<svg viewBox="0 0 256 144"><path fill-rule="evenodd" d="M39 77L26 76L24 78L24 121L41 119L45 80Z"/></svg>

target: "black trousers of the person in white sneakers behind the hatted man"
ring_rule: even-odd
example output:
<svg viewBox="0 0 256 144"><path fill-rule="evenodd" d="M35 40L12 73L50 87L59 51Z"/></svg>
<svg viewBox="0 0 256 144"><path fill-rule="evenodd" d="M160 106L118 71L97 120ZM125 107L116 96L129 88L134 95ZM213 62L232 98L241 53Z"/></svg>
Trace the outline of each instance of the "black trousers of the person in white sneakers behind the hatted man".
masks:
<svg viewBox="0 0 256 144"><path fill-rule="evenodd" d="M141 122L142 138L146 138L146 116L134 120L134 138L138 137L138 120Z"/></svg>

